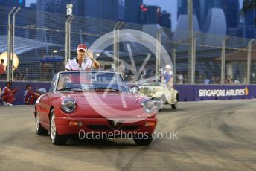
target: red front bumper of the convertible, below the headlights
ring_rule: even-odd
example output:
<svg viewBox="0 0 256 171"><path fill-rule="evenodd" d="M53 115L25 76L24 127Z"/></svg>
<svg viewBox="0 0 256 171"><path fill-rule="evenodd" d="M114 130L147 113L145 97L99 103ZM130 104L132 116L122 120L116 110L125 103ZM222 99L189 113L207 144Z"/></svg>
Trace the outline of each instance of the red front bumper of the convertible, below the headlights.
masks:
<svg viewBox="0 0 256 171"><path fill-rule="evenodd" d="M118 124L106 118L77 118L77 117L56 117L55 125L59 135L79 134L82 130L86 133L110 133L121 132L138 133L143 132L152 134L155 131L157 119L146 118L138 120L130 118L129 120L115 119Z"/></svg>

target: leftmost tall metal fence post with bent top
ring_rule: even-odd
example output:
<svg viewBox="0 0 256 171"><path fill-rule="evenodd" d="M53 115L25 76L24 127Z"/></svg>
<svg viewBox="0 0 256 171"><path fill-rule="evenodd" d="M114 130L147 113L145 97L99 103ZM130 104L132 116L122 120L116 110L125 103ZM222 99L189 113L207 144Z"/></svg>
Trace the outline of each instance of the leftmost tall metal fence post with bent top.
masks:
<svg viewBox="0 0 256 171"><path fill-rule="evenodd" d="M7 51L7 81L11 81L11 77L10 77L10 74L11 74L11 71L10 71L10 56L11 56L11 47L12 47L12 24L10 23L11 22L11 15L13 13L13 11L16 9L16 7L13 7L13 9L10 11L10 13L8 14L8 51Z"/></svg>

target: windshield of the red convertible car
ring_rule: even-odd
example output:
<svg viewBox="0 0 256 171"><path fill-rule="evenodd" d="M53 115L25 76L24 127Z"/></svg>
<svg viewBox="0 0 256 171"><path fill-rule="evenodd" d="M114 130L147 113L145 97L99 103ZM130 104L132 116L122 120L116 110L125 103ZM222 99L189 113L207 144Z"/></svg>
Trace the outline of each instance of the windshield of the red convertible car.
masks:
<svg viewBox="0 0 256 171"><path fill-rule="evenodd" d="M57 91L115 91L129 92L120 74L111 72L62 72Z"/></svg>

